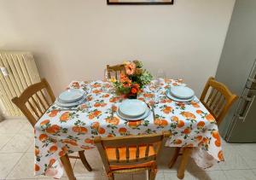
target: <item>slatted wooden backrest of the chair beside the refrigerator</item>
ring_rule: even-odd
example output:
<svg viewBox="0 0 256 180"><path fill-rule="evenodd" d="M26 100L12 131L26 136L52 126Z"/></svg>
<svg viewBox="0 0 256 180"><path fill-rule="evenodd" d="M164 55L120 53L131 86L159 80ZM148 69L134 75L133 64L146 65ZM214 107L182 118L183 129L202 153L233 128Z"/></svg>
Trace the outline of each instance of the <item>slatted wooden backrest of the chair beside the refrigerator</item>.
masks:
<svg viewBox="0 0 256 180"><path fill-rule="evenodd" d="M211 77L208 79L205 89L201 94L200 101L212 113L212 116L219 125L236 99L236 94L231 93L226 85Z"/></svg>

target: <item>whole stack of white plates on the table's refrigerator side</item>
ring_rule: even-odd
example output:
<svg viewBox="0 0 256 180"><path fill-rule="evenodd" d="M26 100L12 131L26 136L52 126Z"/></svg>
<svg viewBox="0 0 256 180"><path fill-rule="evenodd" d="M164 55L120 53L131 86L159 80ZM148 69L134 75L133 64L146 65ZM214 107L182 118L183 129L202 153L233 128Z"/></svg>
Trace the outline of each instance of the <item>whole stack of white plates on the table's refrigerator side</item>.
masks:
<svg viewBox="0 0 256 180"><path fill-rule="evenodd" d="M194 99L195 92L186 86L172 86L166 90L166 96L175 102L190 102Z"/></svg>

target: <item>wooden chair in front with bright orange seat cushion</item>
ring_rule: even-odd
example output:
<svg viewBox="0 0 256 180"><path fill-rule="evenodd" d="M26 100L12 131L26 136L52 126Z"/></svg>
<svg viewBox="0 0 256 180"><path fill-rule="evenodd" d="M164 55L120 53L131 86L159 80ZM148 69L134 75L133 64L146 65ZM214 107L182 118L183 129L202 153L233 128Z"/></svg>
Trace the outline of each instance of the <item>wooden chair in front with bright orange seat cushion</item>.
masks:
<svg viewBox="0 0 256 180"><path fill-rule="evenodd" d="M113 180L113 173L129 173L148 170L148 177L153 180L160 148L166 142L170 132L142 136L121 136L95 138L95 144L101 154L108 179Z"/></svg>

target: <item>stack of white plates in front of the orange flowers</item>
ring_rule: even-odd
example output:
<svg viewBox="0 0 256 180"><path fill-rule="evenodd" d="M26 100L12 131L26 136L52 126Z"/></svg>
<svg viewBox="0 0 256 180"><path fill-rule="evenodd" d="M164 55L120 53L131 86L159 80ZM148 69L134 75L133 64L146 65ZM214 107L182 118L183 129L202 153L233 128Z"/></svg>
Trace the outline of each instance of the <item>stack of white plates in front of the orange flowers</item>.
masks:
<svg viewBox="0 0 256 180"><path fill-rule="evenodd" d="M145 102L137 99L125 100L119 105L117 111L121 119L138 120L148 117L150 109Z"/></svg>

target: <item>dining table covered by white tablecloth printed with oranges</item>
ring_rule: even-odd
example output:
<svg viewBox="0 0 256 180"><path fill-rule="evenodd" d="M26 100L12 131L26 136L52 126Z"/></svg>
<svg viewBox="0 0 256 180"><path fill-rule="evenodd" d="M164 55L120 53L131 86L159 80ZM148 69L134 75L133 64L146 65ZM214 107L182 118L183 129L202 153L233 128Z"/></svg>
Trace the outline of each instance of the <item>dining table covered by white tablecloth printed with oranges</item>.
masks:
<svg viewBox="0 0 256 180"><path fill-rule="evenodd" d="M67 89L80 89L86 101L63 108L53 103L34 126L35 175L60 178L61 157L96 148L94 137L132 136L170 131L167 147L193 148L195 163L203 168L224 161L218 125L207 108L195 98L175 102L166 96L172 86L186 85L181 79L160 78L157 85L145 85L137 99L153 104L147 118L119 118L119 104L125 100L108 81L73 81ZM150 106L151 107L151 106ZM166 148L168 150L168 148ZM170 157L171 160L172 157Z"/></svg>

